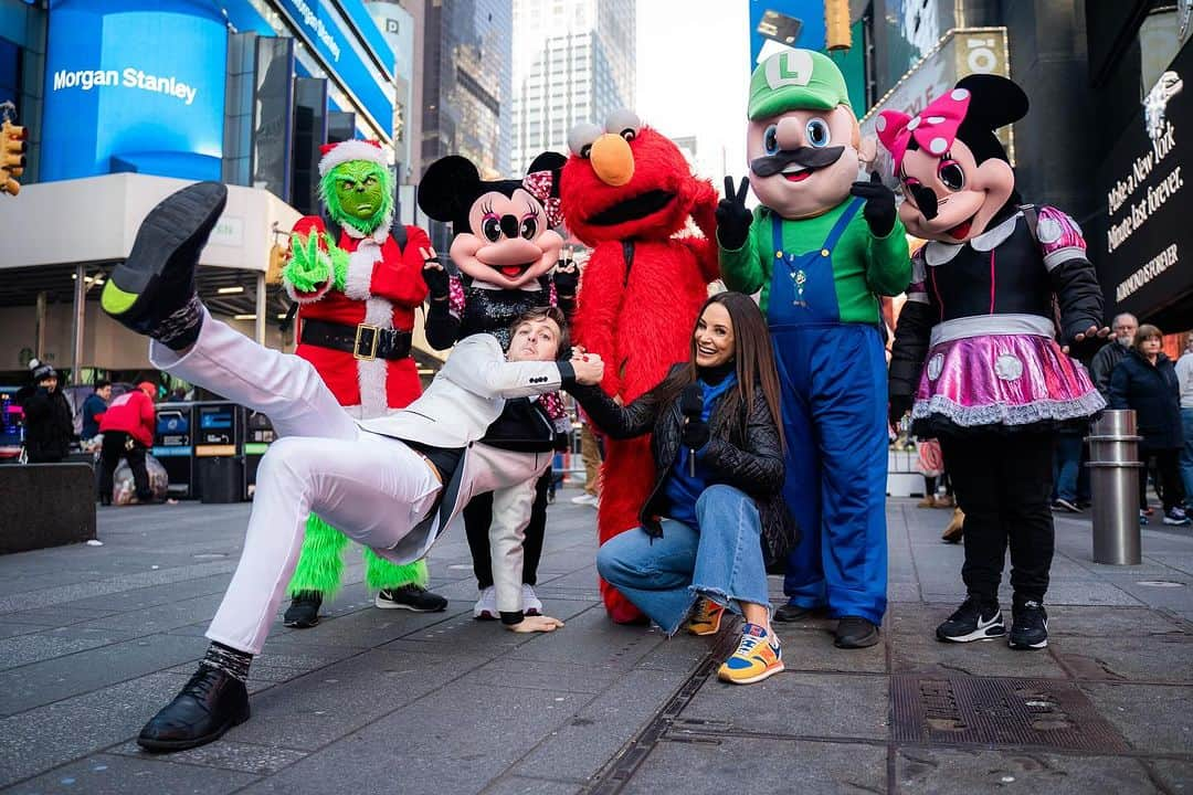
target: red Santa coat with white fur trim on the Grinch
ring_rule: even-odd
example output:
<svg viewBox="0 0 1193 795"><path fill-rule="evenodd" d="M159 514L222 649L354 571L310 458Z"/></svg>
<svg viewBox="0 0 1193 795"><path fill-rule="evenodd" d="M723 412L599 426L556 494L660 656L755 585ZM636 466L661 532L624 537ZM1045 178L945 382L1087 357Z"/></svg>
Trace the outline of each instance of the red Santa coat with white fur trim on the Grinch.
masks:
<svg viewBox="0 0 1193 795"><path fill-rule="evenodd" d="M407 226L406 248L400 249L389 229L388 223L382 224L372 235L363 236L351 226L344 228L339 247L348 253L348 273L342 292L333 288L332 280L311 292L299 291L286 281L286 292L299 305L299 341L302 323L308 318L344 325L365 323L398 331L414 329L414 310L427 297L420 249L429 249L431 240L418 226ZM326 226L321 218L304 216L293 231L322 236ZM404 408L422 393L418 367L409 356L370 361L345 350L302 342L295 353L315 365L340 404L360 418Z"/></svg>

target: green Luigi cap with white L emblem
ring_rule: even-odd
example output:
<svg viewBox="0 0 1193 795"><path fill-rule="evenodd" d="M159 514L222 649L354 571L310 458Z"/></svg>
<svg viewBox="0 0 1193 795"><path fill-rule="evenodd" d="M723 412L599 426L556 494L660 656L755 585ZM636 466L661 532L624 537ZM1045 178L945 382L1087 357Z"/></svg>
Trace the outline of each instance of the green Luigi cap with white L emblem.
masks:
<svg viewBox="0 0 1193 795"><path fill-rule="evenodd" d="M837 105L851 107L845 77L832 58L814 50L775 52L749 79L750 122L787 111L830 111Z"/></svg>

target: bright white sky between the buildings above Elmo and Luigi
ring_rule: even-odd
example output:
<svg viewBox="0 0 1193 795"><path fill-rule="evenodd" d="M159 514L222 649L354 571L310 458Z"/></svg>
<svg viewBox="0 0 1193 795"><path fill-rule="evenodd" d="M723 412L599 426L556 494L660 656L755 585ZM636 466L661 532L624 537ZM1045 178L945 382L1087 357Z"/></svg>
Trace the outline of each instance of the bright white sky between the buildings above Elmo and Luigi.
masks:
<svg viewBox="0 0 1193 795"><path fill-rule="evenodd" d="M697 136L700 176L746 175L747 0L637 0L637 107L668 137Z"/></svg>

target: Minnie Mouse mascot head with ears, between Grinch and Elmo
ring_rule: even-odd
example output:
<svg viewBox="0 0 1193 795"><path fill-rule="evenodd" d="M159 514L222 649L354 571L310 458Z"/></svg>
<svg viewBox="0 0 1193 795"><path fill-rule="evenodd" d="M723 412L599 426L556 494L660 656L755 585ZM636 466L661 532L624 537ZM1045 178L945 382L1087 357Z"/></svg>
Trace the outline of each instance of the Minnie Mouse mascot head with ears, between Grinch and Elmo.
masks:
<svg viewBox="0 0 1193 795"><path fill-rule="evenodd" d="M472 279L519 290L550 271L563 238L558 169L563 156L544 153L526 180L482 181L469 160L452 155L431 164L419 186L419 206L435 221L451 222L451 259Z"/></svg>

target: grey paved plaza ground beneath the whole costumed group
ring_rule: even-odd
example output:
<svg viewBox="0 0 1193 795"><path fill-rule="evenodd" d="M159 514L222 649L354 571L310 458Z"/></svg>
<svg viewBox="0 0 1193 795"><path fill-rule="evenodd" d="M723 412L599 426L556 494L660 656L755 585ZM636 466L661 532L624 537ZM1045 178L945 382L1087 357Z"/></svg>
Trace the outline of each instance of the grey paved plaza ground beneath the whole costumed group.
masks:
<svg viewBox="0 0 1193 795"><path fill-rule="evenodd" d="M538 588L564 629L474 621L463 534L431 558L446 613L375 609L352 555L319 627L276 625L252 720L166 756L132 739L206 647L248 507L103 509L101 547L0 557L0 789L1193 791L1188 532L1144 529L1143 565L1101 566L1088 517L1058 516L1049 648L950 646L932 636L963 596L947 513L890 499L883 642L843 652L828 621L780 625L787 670L734 687L716 665L735 633L665 640L605 619L594 513L574 493L550 509Z"/></svg>

